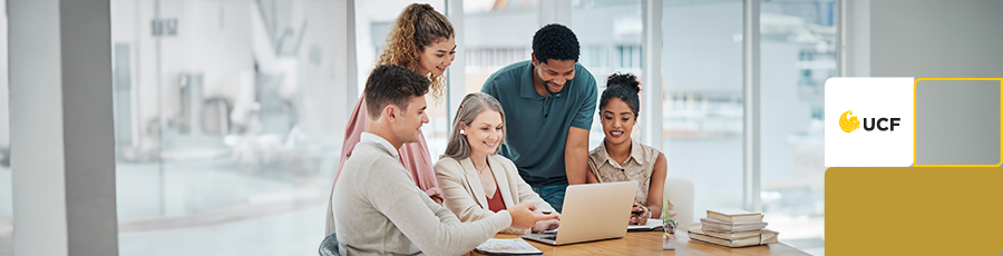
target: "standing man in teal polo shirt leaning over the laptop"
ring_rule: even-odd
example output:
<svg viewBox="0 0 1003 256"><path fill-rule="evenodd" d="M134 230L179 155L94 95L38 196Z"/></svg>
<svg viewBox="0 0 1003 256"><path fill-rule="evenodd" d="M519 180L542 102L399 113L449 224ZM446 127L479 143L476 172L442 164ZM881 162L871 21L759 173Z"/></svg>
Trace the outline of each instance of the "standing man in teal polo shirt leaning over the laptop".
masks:
<svg viewBox="0 0 1003 256"><path fill-rule="evenodd" d="M501 155L544 200L561 211L567 185L585 184L588 129L598 92L578 63L578 39L562 24L533 36L533 59L501 68L480 91L505 109Z"/></svg>

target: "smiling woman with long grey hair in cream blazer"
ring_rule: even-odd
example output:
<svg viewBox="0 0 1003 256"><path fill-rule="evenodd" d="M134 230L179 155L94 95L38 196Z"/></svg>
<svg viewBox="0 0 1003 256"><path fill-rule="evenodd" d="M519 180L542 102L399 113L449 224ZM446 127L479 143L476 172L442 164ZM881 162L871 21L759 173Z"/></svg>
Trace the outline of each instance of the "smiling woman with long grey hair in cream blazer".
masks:
<svg viewBox="0 0 1003 256"><path fill-rule="evenodd" d="M445 206L460 221L474 221L522 203L543 214L559 214L519 177L515 164L497 155L505 141L505 110L494 97L473 92L464 97L452 124L446 154L436 164L436 180ZM544 220L530 229L507 228L501 233L528 234L557 228L558 220Z"/></svg>

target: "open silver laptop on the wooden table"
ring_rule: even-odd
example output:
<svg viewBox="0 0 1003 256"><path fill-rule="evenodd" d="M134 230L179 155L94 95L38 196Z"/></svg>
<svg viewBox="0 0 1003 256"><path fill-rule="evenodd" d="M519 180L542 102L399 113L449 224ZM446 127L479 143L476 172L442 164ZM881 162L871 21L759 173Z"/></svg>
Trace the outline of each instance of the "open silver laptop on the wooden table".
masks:
<svg viewBox="0 0 1003 256"><path fill-rule="evenodd" d="M548 245L620 238L626 235L636 181L567 186L557 233L523 235Z"/></svg>

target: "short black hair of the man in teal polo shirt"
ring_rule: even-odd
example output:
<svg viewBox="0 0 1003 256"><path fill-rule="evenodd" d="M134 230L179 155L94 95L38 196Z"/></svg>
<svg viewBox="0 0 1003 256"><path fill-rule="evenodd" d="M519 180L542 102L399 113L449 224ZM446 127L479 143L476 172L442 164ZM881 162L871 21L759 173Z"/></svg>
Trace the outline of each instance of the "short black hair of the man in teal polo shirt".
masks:
<svg viewBox="0 0 1003 256"><path fill-rule="evenodd" d="M546 63L547 60L575 60L577 62L578 50L578 38L575 37L575 32L563 24L544 26L533 36L533 55L542 63Z"/></svg>

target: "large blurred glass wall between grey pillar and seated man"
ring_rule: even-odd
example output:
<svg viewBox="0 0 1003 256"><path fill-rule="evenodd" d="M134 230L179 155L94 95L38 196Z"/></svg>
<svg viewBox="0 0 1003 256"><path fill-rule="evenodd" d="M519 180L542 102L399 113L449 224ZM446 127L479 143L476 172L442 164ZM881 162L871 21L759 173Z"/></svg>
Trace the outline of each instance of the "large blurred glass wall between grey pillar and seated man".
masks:
<svg viewBox="0 0 1003 256"><path fill-rule="evenodd" d="M310 255L347 119L343 3L113 0L121 255Z"/></svg>

